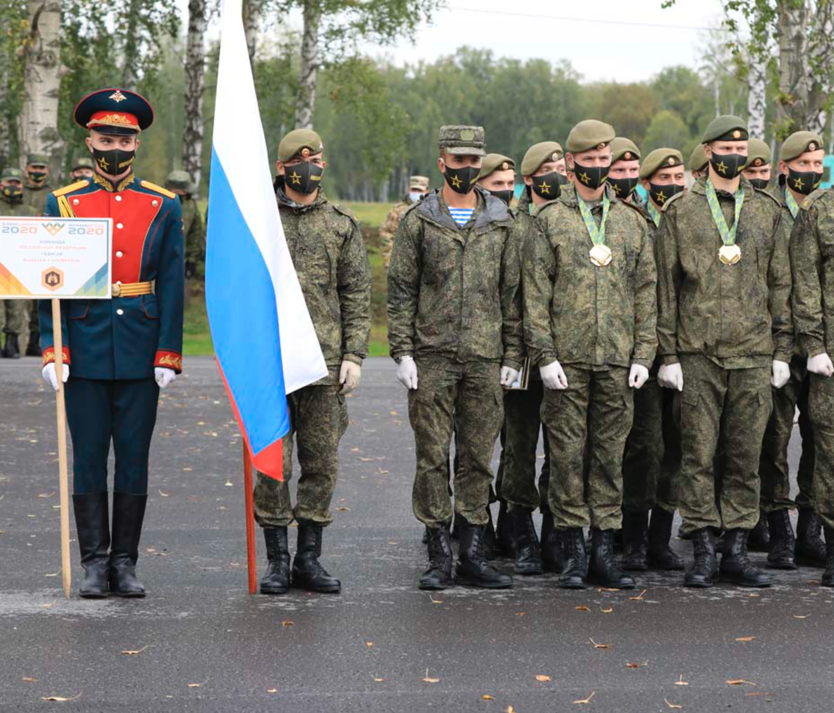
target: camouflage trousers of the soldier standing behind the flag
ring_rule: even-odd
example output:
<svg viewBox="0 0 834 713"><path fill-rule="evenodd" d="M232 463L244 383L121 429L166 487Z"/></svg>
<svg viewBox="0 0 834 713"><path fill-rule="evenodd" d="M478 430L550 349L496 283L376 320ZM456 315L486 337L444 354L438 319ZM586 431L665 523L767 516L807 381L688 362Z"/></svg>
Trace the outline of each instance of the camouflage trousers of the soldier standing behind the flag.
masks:
<svg viewBox="0 0 834 713"><path fill-rule="evenodd" d="M348 428L348 407L339 386L306 386L287 396L289 434L284 436L284 481L259 473L254 490L255 520L261 527L283 527L294 519L329 525L330 500L339 473L339 440ZM293 437L301 474L293 508Z"/></svg>

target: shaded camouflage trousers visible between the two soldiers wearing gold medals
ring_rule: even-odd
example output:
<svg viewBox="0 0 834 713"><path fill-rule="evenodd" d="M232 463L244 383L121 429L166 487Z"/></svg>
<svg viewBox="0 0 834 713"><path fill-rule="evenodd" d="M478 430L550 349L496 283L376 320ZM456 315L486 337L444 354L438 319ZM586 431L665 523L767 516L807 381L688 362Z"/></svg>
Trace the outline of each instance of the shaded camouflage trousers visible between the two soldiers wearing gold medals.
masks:
<svg viewBox="0 0 834 713"><path fill-rule="evenodd" d="M645 513L655 506L675 512L671 476L680 464L681 432L673 401L672 392L654 378L634 392L634 424L623 458L624 512Z"/></svg>

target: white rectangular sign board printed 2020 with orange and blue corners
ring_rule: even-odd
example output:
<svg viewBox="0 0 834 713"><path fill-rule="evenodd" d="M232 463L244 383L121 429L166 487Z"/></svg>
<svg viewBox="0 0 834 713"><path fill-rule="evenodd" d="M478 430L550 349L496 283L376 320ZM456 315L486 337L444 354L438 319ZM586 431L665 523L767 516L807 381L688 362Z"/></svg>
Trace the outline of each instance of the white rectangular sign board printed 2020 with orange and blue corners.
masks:
<svg viewBox="0 0 834 713"><path fill-rule="evenodd" d="M112 218L0 217L0 299L109 299Z"/></svg>

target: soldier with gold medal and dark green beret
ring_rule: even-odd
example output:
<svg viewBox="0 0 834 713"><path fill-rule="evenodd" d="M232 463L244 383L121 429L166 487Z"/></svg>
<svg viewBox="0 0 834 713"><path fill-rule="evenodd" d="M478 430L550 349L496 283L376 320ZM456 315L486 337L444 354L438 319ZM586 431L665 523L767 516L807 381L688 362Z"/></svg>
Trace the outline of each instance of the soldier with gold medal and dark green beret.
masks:
<svg viewBox="0 0 834 713"><path fill-rule="evenodd" d="M681 533L691 535L695 553L685 584L694 587L711 586L719 574L714 537L722 527L721 578L771 584L751 564L746 535L758 520L756 471L771 385L781 389L790 376L791 274L779 204L740 175L747 136L738 117L709 124L702 137L707 174L666 201L656 235L658 381L681 392L675 491ZM726 467L719 511L713 460L720 437Z"/></svg>

